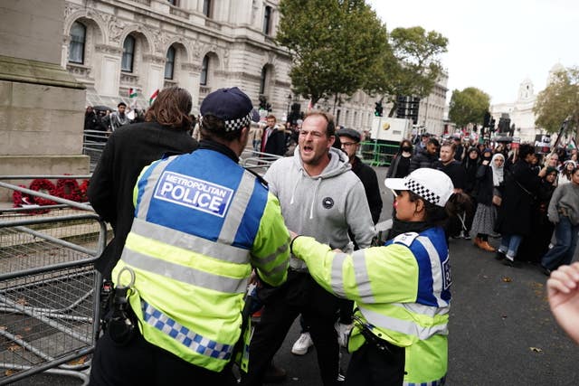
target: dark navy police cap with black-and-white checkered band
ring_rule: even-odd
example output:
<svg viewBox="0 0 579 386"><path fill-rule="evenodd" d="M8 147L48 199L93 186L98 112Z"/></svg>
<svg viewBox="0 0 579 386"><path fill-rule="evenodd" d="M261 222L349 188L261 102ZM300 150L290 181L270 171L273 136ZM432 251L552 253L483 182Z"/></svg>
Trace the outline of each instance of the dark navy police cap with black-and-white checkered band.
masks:
<svg viewBox="0 0 579 386"><path fill-rule="evenodd" d="M253 109L250 99L241 89L217 89L203 99L199 108L200 120L206 115L223 119L225 131L241 130L249 127L252 121L257 122L259 115Z"/></svg>

